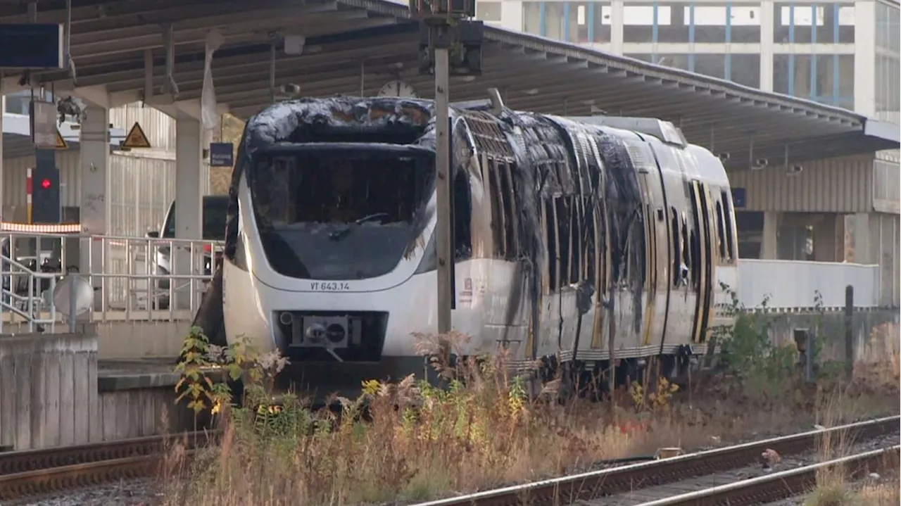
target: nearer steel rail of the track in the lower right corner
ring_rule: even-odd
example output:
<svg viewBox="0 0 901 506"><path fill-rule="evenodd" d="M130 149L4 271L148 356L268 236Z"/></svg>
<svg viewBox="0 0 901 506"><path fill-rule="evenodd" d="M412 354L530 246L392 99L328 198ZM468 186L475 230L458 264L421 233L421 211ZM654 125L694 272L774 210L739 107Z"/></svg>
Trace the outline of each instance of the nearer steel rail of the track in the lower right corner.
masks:
<svg viewBox="0 0 901 506"><path fill-rule="evenodd" d="M788 471L727 483L638 506L751 506L780 501L814 489L816 474L842 469L846 477L860 478L874 471L901 466L901 445L844 456Z"/></svg>

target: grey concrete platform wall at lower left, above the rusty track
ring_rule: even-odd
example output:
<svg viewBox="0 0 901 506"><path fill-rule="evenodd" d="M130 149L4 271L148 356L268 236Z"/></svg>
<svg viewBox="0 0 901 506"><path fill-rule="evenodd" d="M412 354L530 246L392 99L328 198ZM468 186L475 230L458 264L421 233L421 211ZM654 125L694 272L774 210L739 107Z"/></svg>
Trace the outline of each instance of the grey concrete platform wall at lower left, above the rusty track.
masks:
<svg viewBox="0 0 901 506"><path fill-rule="evenodd" d="M98 392L102 340L93 332L0 336L0 447L59 447L191 428L171 386Z"/></svg>

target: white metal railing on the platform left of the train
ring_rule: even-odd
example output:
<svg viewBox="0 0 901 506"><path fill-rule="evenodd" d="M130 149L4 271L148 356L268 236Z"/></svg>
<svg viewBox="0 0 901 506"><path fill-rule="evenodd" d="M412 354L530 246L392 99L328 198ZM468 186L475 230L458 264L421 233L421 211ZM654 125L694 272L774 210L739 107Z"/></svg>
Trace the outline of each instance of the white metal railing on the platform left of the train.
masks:
<svg viewBox="0 0 901 506"><path fill-rule="evenodd" d="M4 279L9 276L0 320L30 326L57 321L52 296L41 297L47 286L36 291L34 280L50 279L55 287L63 271L94 286L87 321L193 319L223 248L216 240L23 232L4 233L0 243L8 245ZM13 284L14 277L25 281Z"/></svg>

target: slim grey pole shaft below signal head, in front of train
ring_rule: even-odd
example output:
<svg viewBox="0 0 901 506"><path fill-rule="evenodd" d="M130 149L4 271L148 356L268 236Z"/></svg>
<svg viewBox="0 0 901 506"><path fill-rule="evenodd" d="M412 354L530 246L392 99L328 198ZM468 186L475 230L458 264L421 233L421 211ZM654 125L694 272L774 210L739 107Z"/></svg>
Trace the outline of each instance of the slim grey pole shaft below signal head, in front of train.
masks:
<svg viewBox="0 0 901 506"><path fill-rule="evenodd" d="M432 30L440 31L442 26L433 26ZM438 258L438 333L451 331L451 146L449 125L449 62L448 47L442 44L447 37L439 34L435 41L435 206L437 222L435 223L435 247Z"/></svg>

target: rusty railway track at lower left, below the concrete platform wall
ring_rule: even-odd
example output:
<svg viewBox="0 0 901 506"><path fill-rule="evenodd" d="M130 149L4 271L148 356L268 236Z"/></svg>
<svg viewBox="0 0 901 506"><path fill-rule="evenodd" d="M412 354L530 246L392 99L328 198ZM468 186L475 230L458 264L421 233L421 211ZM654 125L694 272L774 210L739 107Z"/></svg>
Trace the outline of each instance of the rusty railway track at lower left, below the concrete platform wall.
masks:
<svg viewBox="0 0 901 506"><path fill-rule="evenodd" d="M185 441L191 455L217 436L197 431L0 453L0 501L146 477L157 470L167 442Z"/></svg>

